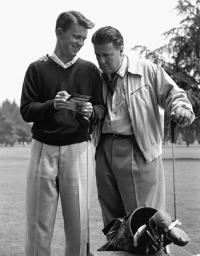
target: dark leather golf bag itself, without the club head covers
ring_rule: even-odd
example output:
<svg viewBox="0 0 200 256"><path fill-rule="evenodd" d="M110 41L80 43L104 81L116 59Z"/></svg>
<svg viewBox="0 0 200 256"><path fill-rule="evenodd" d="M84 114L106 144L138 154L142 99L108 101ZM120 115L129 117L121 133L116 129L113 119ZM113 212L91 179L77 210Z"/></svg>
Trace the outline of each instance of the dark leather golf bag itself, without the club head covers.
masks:
<svg viewBox="0 0 200 256"><path fill-rule="evenodd" d="M98 251L125 251L145 255L162 248L163 235L153 234L153 230L149 227L149 220L155 212L157 212L156 209L144 206L135 209L124 218L111 221L103 232L106 236L112 235L112 238ZM138 230L141 231L140 234L137 233ZM136 233L139 234L139 239L136 239ZM153 236L152 239L151 236Z"/></svg>

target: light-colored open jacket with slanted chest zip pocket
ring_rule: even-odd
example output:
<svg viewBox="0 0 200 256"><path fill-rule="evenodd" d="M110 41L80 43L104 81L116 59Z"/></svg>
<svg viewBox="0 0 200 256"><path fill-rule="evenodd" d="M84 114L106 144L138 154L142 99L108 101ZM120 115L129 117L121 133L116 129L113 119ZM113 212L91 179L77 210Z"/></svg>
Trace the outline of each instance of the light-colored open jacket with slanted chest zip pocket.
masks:
<svg viewBox="0 0 200 256"><path fill-rule="evenodd" d="M181 106L192 113L193 122L192 105L185 91L174 83L162 67L148 60L128 58L124 88L135 138L146 161L151 163L162 154L164 110L171 116ZM104 84L104 97L106 95L107 86ZM96 146L101 128L94 128L93 142Z"/></svg>

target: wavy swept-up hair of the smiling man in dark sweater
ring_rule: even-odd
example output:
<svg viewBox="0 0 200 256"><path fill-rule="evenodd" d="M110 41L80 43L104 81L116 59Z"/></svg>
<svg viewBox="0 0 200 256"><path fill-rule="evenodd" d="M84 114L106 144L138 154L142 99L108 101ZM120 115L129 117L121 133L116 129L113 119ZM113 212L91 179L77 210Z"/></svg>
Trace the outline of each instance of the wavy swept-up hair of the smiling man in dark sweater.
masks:
<svg viewBox="0 0 200 256"><path fill-rule="evenodd" d="M70 28L72 24L79 24L87 29L91 29L95 26L95 23L86 19L81 12L68 11L59 14L58 19L56 20L56 31L58 28L61 28L64 32L66 32L66 30Z"/></svg>

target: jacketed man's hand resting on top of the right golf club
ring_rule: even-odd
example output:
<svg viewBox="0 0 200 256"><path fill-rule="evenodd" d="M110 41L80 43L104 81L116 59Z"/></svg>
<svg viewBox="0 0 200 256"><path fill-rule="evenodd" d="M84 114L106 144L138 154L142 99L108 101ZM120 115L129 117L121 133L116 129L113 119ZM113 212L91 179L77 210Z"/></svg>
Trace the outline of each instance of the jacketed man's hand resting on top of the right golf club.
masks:
<svg viewBox="0 0 200 256"><path fill-rule="evenodd" d="M192 113L190 113L190 111L188 111L188 109L178 107L171 114L171 117L174 119L174 122L176 122L176 124L184 127L192 123L193 115Z"/></svg>

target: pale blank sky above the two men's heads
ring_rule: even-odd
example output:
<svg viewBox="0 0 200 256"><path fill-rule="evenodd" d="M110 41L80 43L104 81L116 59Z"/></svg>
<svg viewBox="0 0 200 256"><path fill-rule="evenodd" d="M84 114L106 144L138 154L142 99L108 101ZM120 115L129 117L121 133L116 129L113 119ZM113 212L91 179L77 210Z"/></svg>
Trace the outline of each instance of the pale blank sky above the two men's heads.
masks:
<svg viewBox="0 0 200 256"><path fill-rule="evenodd" d="M173 10L176 5L176 0L1 1L0 104L6 99L20 104L27 67L54 51L59 13L77 10L95 22L78 55L98 66L91 43L91 36L98 28L117 28L123 35L125 52L135 45L154 50L165 44L162 34L180 24L181 17Z"/></svg>

